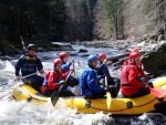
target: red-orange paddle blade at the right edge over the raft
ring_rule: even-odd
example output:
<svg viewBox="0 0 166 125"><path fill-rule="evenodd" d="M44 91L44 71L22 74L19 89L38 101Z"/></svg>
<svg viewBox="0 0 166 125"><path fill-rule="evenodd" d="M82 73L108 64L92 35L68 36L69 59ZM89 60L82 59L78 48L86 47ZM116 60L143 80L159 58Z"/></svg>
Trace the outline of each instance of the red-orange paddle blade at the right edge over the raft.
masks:
<svg viewBox="0 0 166 125"><path fill-rule="evenodd" d="M162 98L166 94L165 88L151 88L151 94L158 98Z"/></svg>

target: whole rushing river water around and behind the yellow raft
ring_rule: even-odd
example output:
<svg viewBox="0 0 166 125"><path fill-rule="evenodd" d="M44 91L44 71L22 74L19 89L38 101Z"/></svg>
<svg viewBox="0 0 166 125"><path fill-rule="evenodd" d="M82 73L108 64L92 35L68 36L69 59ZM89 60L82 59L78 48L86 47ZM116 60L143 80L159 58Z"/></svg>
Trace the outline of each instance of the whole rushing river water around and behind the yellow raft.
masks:
<svg viewBox="0 0 166 125"><path fill-rule="evenodd" d="M80 49L89 50L89 54L106 53L107 58L124 53L123 50L112 50L108 48L94 49L83 45L73 45L75 51L71 51L71 58L75 59L76 74L86 63L86 56L79 53ZM52 61L60 51L39 52L44 65L44 70L52 70ZM85 54L85 53L84 53ZM28 103L25 101L15 102L12 100L12 90L21 82L14 82L14 64L20 55L10 61L0 60L0 125L165 125L166 115L160 113L145 113L139 116L111 116L111 114L75 114L75 110L66 107L63 98L60 98L56 106L51 102L45 105ZM114 69L110 66L110 69ZM120 71L111 72L113 75Z"/></svg>

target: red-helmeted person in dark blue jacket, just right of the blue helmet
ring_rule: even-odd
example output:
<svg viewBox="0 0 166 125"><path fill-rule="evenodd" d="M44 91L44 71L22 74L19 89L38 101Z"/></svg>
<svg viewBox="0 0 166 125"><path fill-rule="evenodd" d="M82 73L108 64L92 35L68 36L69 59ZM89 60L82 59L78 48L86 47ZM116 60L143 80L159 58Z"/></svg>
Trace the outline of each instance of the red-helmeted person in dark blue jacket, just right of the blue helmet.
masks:
<svg viewBox="0 0 166 125"><path fill-rule="evenodd" d="M120 79L117 77L112 77L110 75L110 71L107 67L107 60L106 60L106 54L105 53L100 53L97 55L98 60L100 60L100 65L97 66L96 71L97 71L97 76L98 76L98 81L101 84L105 84L105 75L107 76L107 84L110 85L110 87L112 86L113 88L115 88L115 95L117 96L117 93L120 91Z"/></svg>

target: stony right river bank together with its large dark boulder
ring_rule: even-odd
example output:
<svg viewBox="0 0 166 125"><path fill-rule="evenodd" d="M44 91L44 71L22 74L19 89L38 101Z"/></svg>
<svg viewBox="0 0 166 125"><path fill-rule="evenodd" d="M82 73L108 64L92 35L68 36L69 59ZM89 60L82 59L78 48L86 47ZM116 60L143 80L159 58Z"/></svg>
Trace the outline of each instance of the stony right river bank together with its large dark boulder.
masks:
<svg viewBox="0 0 166 125"><path fill-rule="evenodd" d="M142 62L144 65L144 70L147 73L155 76L166 73L166 40L112 40L91 42L84 41L74 43L83 44L85 46L126 50L126 52L129 52L132 49L138 49L143 53Z"/></svg>

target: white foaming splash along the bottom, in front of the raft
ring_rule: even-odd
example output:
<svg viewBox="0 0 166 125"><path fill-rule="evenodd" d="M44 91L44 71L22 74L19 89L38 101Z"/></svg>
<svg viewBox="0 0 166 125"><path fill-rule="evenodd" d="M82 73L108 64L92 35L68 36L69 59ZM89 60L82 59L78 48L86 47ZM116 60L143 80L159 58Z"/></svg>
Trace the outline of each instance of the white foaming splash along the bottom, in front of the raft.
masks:
<svg viewBox="0 0 166 125"><path fill-rule="evenodd" d="M0 123L8 125L104 125L110 121L103 113L76 115L76 111L66 107L62 98L55 108L51 102L44 105L27 104L25 101L0 102Z"/></svg>

